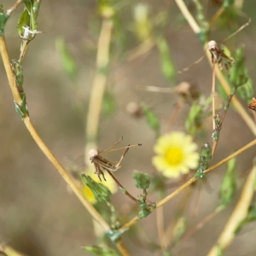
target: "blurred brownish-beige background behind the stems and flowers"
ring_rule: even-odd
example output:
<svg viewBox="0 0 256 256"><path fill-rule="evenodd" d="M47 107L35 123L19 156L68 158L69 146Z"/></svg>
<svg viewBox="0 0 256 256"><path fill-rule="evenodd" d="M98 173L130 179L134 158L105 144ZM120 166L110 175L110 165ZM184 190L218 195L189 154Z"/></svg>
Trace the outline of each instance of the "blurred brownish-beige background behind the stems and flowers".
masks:
<svg viewBox="0 0 256 256"><path fill-rule="evenodd" d="M216 13L222 3L210 0L201 2L206 7L207 19ZM9 9L15 1L5 0L1 3L4 9ZM185 3L195 16L193 1ZM146 53L136 57L133 55L143 42L135 20L138 4L146 7L154 34L166 40L167 57L171 60L175 73L170 78L163 73L163 56L166 51L161 52L160 46L152 45ZM154 172L151 159L154 155L156 136L145 116L131 113L130 108L130 111L127 111L127 106L131 102L137 103L138 106L142 102L147 104L160 118L160 133L185 131L184 121L189 113L189 104L183 104L175 123L170 125L178 96L174 93L147 91L145 87L173 88L186 81L195 84L202 94L210 96L212 70L205 58L188 72L177 74L178 70L189 66L204 52L174 1L116 1L113 6L117 15L111 40L107 93L102 105L98 148L108 148L122 136L123 145L143 143L141 148L131 148L125 156L122 168L116 173L125 188L133 195L138 195L141 191L136 189L131 173L133 170L148 174ZM38 15L38 31L44 33L38 34L37 38L32 40L23 61L23 88L26 91L32 123L61 164L67 167L67 160L73 160L81 166L81 172L84 146L87 143L85 125L88 102L91 84L96 75L97 40L102 25L102 16L97 8L98 3L93 0L42 1ZM11 59L17 59L20 55L21 40L16 26L22 9L23 6L20 5L15 10L5 29ZM256 15L254 1L243 1L242 11L253 18ZM241 17L231 21L213 26L210 39L221 41L247 20ZM230 47L231 52L234 52L236 46L245 45L247 68L253 81L256 79L256 73L253 72L256 60L255 25L255 20L252 20L250 26L224 43ZM63 68L63 42L75 63L71 73L67 73ZM67 184L26 131L25 125L15 113L2 61L0 67L0 241L31 256L90 255L81 249L81 246L96 244L90 214L78 198L70 193ZM241 102L247 109L247 102ZM200 136L195 137L199 148L202 143L211 143L211 133L212 121L204 119ZM251 140L252 132L234 108L230 108L212 164ZM120 154L109 154L109 159L118 160ZM233 203L212 218L203 229L183 239L175 247L173 255L207 254L236 205L254 156L255 148L251 148L237 158L239 179ZM223 176L224 166L207 176L207 185L201 181L195 185L195 195L191 197L186 209L189 228L218 206L218 189ZM168 189L167 192L171 193L174 189L175 187ZM163 211L166 224L174 218L175 208L182 196L178 195L165 205ZM159 200L155 195L150 195L149 199ZM113 195L113 205L123 217L134 207L133 202L120 192ZM127 219L121 218L121 222L125 224L135 216L135 212L132 214L128 216L127 213ZM136 231L135 235L124 235L125 246L131 255L161 255L160 251L148 250L137 238L147 234L148 241L159 243L155 219L156 213L153 212L137 224L143 231ZM255 236L256 224L247 225L239 236L236 236L225 255L255 255Z"/></svg>

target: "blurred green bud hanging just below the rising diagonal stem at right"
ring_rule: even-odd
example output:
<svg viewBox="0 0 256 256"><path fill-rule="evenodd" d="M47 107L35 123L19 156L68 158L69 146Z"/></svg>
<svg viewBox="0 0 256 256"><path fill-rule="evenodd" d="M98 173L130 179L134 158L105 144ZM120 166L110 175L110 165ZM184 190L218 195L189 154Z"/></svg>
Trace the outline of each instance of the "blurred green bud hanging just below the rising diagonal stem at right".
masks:
<svg viewBox="0 0 256 256"><path fill-rule="evenodd" d="M236 192L236 159L228 161L227 171L218 192L220 201L226 207L234 198Z"/></svg>

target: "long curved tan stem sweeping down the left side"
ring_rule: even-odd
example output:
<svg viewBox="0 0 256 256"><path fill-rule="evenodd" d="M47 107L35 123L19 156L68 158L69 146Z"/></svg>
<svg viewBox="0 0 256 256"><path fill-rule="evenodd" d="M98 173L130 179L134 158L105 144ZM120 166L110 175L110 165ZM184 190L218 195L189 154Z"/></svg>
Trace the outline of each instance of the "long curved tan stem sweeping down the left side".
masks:
<svg viewBox="0 0 256 256"><path fill-rule="evenodd" d="M20 98L20 93L17 89L15 76L12 71L10 61L9 61L9 54L7 51L4 37L0 37L0 53L2 55L3 65L5 67L5 72L7 74L7 77L9 80L9 86L10 86L10 89L14 96L15 102L20 104L22 102L22 100ZM106 230L106 231L110 230L106 221L102 218L102 216L99 214L99 212L97 212L96 209L94 207L92 207L90 202L84 198L83 193L78 188L76 183L73 182L72 177L69 176L68 172L63 168L63 166L61 166L60 162L58 160L56 160L54 154L52 154L50 152L49 148L47 148L47 146L44 144L41 137L38 136L38 132L35 130L34 126L32 125L32 121L31 121L31 119L29 119L29 117L26 116L24 118L24 124L26 125L27 130L30 132L30 134L33 137L33 139L35 140L35 142L38 144L38 147L43 151L43 153L48 158L48 160L53 164L53 166L55 166L57 171L61 174L61 177L63 177L63 179L66 181L66 183L71 187L71 189L73 189L74 194L78 196L79 200L82 202L84 207L88 210L88 212L90 212L92 217L95 218L96 221L102 225L104 230Z"/></svg>

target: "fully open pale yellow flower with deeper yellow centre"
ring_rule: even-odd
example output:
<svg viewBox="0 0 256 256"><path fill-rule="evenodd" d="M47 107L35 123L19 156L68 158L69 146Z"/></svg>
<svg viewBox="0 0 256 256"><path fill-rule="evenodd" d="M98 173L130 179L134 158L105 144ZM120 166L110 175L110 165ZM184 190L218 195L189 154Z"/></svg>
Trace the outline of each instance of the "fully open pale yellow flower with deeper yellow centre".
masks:
<svg viewBox="0 0 256 256"><path fill-rule="evenodd" d="M179 177L189 169L198 166L199 154L195 152L197 144L192 137L182 131L173 131L159 137L152 163L165 177Z"/></svg>

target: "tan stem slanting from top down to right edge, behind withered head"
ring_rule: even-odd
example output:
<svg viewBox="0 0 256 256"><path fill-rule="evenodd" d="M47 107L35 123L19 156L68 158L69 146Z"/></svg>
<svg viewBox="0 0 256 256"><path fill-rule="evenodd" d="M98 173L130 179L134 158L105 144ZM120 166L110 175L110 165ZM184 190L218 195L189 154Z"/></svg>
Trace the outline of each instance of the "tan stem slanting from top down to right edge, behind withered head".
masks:
<svg viewBox="0 0 256 256"><path fill-rule="evenodd" d="M189 13L189 9L187 9L185 3L183 3L183 0L175 0L177 3L178 8L182 12L184 18L189 22L189 26L192 28L192 30L195 32L195 34L198 34L201 32L200 26L196 23L193 16ZM204 46L204 49L207 47L207 44ZM212 65L212 56L210 52L207 51L207 59ZM225 92L230 95L230 84L227 82L227 80L224 78L224 75L219 70L218 66L215 67L216 76L222 84ZM253 132L253 134L256 136L256 124L254 124L253 119L250 118L247 111L241 106L241 103L238 101L236 96L233 97L232 103L234 104L234 107L236 108L237 112L241 115L241 118L244 119L249 129Z"/></svg>

